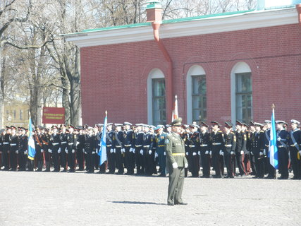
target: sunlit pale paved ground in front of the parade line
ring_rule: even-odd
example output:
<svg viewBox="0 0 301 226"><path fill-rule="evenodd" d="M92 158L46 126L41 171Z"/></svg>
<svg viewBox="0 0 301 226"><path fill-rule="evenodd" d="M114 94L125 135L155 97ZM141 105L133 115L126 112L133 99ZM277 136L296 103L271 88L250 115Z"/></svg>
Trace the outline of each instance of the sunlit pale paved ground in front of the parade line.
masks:
<svg viewBox="0 0 301 226"><path fill-rule="evenodd" d="M0 172L0 225L300 225L301 181Z"/></svg>

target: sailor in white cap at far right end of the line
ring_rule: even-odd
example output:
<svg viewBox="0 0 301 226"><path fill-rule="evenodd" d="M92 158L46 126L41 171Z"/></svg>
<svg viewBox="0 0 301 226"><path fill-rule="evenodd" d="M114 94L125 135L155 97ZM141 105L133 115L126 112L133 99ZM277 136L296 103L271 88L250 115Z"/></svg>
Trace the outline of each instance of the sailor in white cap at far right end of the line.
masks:
<svg viewBox="0 0 301 226"><path fill-rule="evenodd" d="M290 120L292 130L290 131L290 159L292 160L293 178L301 179L301 131L298 128L300 121Z"/></svg>

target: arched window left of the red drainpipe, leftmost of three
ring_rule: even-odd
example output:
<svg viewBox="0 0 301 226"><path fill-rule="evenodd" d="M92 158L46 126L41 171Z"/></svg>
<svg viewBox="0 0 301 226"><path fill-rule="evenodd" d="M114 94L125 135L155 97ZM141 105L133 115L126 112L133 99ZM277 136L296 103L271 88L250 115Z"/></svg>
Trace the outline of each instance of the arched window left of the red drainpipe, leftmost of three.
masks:
<svg viewBox="0 0 301 226"><path fill-rule="evenodd" d="M165 78L160 69L152 69L147 78L147 121L166 124Z"/></svg>

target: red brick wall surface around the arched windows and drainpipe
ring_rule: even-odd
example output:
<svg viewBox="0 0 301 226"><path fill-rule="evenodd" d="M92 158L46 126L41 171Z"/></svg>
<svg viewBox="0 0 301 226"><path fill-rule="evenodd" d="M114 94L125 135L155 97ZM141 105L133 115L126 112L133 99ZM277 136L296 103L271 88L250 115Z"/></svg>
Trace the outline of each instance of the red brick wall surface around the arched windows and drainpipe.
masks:
<svg viewBox="0 0 301 226"><path fill-rule="evenodd" d="M271 117L301 121L301 28L283 25L165 39L173 60L173 90L186 119L186 73L197 62L207 73L208 121L231 120L230 78L245 61L252 69L254 121ZM167 64L154 41L81 49L82 121L147 123L147 76ZM184 73L184 75L183 75Z"/></svg>

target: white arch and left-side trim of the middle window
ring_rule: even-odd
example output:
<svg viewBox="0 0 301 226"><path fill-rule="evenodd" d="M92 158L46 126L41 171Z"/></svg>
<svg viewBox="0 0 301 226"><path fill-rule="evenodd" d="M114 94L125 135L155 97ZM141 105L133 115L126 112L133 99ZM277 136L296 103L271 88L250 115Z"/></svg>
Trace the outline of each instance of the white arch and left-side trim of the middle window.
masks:
<svg viewBox="0 0 301 226"><path fill-rule="evenodd" d="M192 65L188 70L187 77L186 77L186 97L187 97L187 123L192 124L192 76L206 76L206 72L199 65Z"/></svg>

